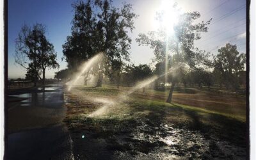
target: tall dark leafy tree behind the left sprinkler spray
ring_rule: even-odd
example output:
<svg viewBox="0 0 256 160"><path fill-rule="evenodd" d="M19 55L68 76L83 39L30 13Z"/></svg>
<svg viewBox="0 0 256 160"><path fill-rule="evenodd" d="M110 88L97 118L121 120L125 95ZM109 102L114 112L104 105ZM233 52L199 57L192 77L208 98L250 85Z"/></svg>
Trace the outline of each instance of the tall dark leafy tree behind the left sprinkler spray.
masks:
<svg viewBox="0 0 256 160"><path fill-rule="evenodd" d="M88 0L72 4L75 10L72 36L68 36L63 45L69 68L77 68L81 61L98 52L105 53L105 63L99 64L97 86L101 86L104 68L109 68L112 61L129 60L131 38L127 33L134 29L136 15L132 13L131 4L116 8L111 3L111 0Z"/></svg>

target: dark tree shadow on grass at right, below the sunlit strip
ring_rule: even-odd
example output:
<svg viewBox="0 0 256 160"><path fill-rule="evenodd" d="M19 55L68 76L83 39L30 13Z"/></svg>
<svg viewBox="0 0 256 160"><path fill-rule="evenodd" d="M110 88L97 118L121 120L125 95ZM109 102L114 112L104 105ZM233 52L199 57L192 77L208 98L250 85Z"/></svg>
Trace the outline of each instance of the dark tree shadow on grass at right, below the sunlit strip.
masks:
<svg viewBox="0 0 256 160"><path fill-rule="evenodd" d="M180 108L175 104L172 105ZM196 111L186 110L184 113L192 120L187 125L188 129L198 130L205 136L214 135L220 140L245 147L246 124L244 122L214 113L207 113L205 116L199 115Z"/></svg>

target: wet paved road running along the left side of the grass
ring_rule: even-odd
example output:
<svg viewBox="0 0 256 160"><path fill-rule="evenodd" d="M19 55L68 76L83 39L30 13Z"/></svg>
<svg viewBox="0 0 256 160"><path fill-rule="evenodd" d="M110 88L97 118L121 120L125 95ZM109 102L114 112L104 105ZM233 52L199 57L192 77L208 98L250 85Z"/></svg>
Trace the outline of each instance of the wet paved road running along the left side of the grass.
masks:
<svg viewBox="0 0 256 160"><path fill-rule="evenodd" d="M11 133L6 159L73 159L70 135L62 123L63 86L49 84L27 93L12 93L9 100L17 98L22 98L21 102L8 111Z"/></svg>

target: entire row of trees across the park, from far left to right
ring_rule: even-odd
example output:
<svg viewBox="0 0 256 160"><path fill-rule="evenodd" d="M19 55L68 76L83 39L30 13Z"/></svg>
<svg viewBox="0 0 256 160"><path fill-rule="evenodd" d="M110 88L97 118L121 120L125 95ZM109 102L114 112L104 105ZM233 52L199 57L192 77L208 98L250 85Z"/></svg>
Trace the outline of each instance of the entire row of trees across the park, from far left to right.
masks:
<svg viewBox="0 0 256 160"><path fill-rule="evenodd" d="M139 45L154 49L153 62L156 66L152 70L147 65L125 65L129 61L131 45L128 32L134 29L134 19L137 17L132 12L131 4L124 3L121 8L116 8L111 0L88 0L78 1L72 7L71 35L63 44L63 59L67 61L68 68L57 72L56 77L70 76L98 52L104 52L104 61L91 69L97 72L97 86L102 85L103 77L108 77L119 86L132 85L152 74L160 76L168 72L166 77L157 81L158 84L172 84L167 102L171 102L177 83L211 86L214 82L228 89L237 89L241 77L244 77L245 54L240 54L236 45L221 47L219 54L214 57L194 46L195 40L201 38L201 33L207 32L207 26L211 23L211 19L196 23L200 17L198 12L179 15L172 35L168 34L166 28L159 28L147 34L141 33L136 38ZM161 20L161 15L158 18ZM33 28L22 27L16 41L15 60L27 68L27 77L33 79L35 84L38 79L44 81L47 67L58 67L56 52L45 38L42 24L36 24ZM87 78L85 73L84 84Z"/></svg>

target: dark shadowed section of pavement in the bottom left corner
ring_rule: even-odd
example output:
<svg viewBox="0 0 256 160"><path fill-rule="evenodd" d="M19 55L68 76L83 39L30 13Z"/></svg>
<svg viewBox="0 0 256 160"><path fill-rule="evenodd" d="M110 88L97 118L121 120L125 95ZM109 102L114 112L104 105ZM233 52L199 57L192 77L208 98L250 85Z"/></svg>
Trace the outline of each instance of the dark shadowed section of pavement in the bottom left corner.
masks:
<svg viewBox="0 0 256 160"><path fill-rule="evenodd" d="M70 141L65 125L9 134L7 159L72 159Z"/></svg>

